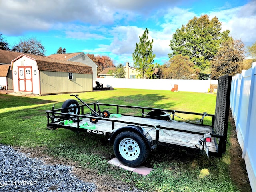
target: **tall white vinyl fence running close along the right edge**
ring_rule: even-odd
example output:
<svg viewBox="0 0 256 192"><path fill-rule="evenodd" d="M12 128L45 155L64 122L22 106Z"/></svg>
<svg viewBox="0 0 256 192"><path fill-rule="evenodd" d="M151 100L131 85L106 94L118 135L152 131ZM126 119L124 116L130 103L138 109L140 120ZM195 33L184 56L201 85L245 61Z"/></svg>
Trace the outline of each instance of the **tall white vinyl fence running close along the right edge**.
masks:
<svg viewBox="0 0 256 192"><path fill-rule="evenodd" d="M252 191L256 192L256 63L232 77L230 108Z"/></svg>

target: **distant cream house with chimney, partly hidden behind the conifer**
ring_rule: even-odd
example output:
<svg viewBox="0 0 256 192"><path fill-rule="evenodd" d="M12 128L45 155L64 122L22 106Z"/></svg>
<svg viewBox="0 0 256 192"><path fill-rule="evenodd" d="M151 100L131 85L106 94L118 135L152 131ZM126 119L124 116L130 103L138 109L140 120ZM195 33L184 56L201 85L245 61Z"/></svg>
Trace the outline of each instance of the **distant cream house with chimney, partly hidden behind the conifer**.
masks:
<svg viewBox="0 0 256 192"><path fill-rule="evenodd" d="M125 70L125 78L126 79L135 79L136 75L140 74L136 68L129 66L129 63L126 63L126 66L124 67ZM109 74L109 71L116 71L115 67L108 67L105 68L102 72L99 73L100 77L104 78L115 78L113 74Z"/></svg>

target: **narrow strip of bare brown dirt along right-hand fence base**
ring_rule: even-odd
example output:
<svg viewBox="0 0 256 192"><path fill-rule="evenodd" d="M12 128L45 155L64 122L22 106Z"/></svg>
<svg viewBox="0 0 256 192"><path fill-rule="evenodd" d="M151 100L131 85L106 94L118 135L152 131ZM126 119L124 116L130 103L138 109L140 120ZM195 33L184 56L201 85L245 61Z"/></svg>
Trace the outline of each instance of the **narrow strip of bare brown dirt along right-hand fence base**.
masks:
<svg viewBox="0 0 256 192"><path fill-rule="evenodd" d="M232 126L230 133L231 146L229 151L231 157L230 176L241 192L251 192L252 189L246 171L245 162L244 159L242 159L242 150L237 140L236 126L231 112L229 112L229 121Z"/></svg>

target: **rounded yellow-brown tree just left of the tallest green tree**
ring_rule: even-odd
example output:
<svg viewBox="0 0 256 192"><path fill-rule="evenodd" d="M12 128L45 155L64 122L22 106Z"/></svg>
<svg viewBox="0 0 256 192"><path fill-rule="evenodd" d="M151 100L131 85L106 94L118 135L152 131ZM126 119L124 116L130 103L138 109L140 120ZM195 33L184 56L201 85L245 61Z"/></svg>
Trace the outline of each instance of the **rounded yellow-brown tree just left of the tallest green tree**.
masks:
<svg viewBox="0 0 256 192"><path fill-rule="evenodd" d="M194 63L188 56L175 55L160 68L162 79L198 79Z"/></svg>

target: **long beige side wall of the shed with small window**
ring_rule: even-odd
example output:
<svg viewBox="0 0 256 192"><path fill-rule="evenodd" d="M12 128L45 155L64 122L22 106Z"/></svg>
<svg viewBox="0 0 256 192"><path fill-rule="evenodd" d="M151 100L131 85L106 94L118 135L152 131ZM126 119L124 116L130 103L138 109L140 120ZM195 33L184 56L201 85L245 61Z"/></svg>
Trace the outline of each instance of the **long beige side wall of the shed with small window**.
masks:
<svg viewBox="0 0 256 192"><path fill-rule="evenodd" d="M40 71L40 94L92 91L92 74Z"/></svg>

